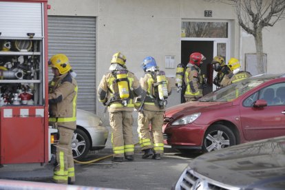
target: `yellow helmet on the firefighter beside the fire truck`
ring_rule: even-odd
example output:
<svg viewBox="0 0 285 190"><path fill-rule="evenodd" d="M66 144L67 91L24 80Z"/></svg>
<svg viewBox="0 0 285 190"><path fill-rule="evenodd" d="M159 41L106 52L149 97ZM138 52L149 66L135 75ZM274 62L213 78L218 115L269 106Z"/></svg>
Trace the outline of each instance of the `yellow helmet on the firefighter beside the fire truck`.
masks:
<svg viewBox="0 0 285 190"><path fill-rule="evenodd" d="M48 61L48 66L58 69L60 74L65 74L72 69L70 61L65 54L55 54L52 56Z"/></svg>

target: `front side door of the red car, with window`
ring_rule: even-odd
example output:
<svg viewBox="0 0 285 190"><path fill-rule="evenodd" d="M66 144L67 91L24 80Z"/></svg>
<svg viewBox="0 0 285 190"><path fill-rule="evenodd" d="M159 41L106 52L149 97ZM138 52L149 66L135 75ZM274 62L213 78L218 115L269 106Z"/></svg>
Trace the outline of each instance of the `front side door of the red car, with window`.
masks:
<svg viewBox="0 0 285 190"><path fill-rule="evenodd" d="M277 83L260 89L243 101L240 105L240 116L246 140L260 140L285 135L284 97L285 83ZM267 106L251 107L251 104L257 99L266 100Z"/></svg>

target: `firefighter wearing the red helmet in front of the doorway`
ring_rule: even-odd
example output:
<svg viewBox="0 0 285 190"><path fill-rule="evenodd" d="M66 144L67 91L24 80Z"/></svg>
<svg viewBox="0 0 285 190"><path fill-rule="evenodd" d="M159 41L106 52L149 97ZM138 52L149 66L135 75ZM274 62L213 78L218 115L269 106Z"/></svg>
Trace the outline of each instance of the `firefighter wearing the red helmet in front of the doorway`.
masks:
<svg viewBox="0 0 285 190"><path fill-rule="evenodd" d="M189 63L186 65L184 73L184 83L186 89L184 98L186 102L197 101L203 96L203 87L206 84L205 78L201 74L200 65L206 58L199 52L194 52L189 56Z"/></svg>

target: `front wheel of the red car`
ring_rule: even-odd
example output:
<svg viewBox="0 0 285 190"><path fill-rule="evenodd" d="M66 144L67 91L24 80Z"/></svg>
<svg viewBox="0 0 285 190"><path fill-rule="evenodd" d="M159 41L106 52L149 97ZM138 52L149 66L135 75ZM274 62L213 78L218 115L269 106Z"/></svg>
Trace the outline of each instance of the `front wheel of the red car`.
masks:
<svg viewBox="0 0 285 190"><path fill-rule="evenodd" d="M233 131L224 125L213 125L204 135L202 149L204 152L224 149L236 144Z"/></svg>

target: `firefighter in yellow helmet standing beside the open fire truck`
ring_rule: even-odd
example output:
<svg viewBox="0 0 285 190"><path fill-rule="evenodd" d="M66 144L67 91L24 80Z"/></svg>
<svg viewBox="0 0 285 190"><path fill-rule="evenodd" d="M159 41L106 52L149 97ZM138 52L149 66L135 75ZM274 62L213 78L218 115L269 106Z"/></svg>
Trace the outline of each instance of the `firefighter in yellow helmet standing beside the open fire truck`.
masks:
<svg viewBox="0 0 285 190"><path fill-rule="evenodd" d="M75 175L71 142L76 129L77 83L65 54L52 56L48 65L54 74L48 90L49 122L59 130L53 181L73 184Z"/></svg>

